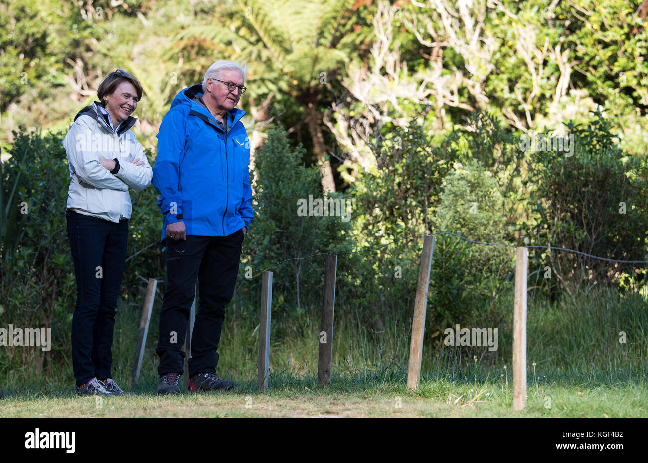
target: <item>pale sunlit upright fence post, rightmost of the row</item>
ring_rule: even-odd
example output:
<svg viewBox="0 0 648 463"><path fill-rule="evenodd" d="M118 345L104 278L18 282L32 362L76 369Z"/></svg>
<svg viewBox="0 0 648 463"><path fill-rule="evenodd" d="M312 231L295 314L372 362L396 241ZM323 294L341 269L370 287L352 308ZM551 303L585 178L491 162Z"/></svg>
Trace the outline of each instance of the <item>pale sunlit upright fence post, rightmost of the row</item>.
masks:
<svg viewBox="0 0 648 463"><path fill-rule="evenodd" d="M524 409L526 403L526 314L529 250L517 248L515 263L515 312L513 313L513 409Z"/></svg>

